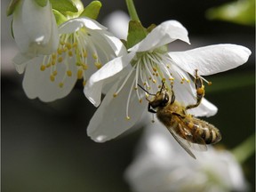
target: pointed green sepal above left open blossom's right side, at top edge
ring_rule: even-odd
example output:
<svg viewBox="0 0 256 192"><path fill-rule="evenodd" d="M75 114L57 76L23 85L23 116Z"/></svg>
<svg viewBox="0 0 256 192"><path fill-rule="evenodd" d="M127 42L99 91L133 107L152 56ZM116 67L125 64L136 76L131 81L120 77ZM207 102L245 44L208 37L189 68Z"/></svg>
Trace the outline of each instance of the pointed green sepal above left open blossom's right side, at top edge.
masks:
<svg viewBox="0 0 256 192"><path fill-rule="evenodd" d="M88 4L84 8L84 12L82 12L79 17L88 17L91 18L92 20L97 20L98 15L100 13L100 8L102 4L100 1L92 1L91 4Z"/></svg>

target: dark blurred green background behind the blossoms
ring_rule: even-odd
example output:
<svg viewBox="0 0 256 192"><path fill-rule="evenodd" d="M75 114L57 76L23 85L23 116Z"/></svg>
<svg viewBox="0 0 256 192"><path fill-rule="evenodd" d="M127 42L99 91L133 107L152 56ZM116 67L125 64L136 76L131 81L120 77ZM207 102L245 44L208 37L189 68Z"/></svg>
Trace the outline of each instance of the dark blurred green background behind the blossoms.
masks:
<svg viewBox="0 0 256 192"><path fill-rule="evenodd" d="M124 0L101 2L99 20L117 9L126 11ZM205 11L223 2L135 0L134 4L145 26L173 19L188 28L191 45L174 43L171 50L220 43L251 49L252 55L242 67L206 77L213 83L206 86L206 98L219 108L207 121L220 129L220 144L232 149L255 132L255 28L207 20ZM11 18L4 14L7 2L1 3L2 191L130 191L123 174L143 130L103 144L90 140L86 126L95 108L85 100L79 85L68 97L52 103L28 100L21 87L23 76L12 67L17 50L10 32ZM244 162L243 169L254 191L255 155Z"/></svg>

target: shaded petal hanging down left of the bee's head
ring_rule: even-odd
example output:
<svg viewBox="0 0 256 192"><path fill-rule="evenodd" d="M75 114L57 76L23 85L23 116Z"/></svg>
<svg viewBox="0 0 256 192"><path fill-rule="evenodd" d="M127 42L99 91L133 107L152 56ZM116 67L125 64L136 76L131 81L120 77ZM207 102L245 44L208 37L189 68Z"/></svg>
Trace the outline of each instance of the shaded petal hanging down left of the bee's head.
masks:
<svg viewBox="0 0 256 192"><path fill-rule="evenodd" d="M132 84L130 78L127 84ZM120 83L120 82L119 82ZM122 83L122 81L121 81ZM147 108L148 103L140 103L137 95L133 94L130 100L130 120L127 120L125 114L126 100L130 86L124 86L122 92L113 97L116 92L117 84L109 90L108 94L100 104L87 128L87 134L97 142L104 142L116 138L122 132L125 132L132 127L142 115L143 111ZM120 110L121 108L121 110Z"/></svg>

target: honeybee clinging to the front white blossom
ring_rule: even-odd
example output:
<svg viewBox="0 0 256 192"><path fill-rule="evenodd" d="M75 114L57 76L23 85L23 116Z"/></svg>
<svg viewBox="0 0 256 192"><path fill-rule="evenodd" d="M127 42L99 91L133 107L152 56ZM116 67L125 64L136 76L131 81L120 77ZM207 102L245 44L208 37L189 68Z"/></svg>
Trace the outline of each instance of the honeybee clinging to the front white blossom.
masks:
<svg viewBox="0 0 256 192"><path fill-rule="evenodd" d="M148 100L148 112L156 114L180 146L184 148L190 156L196 159L196 156L189 148L197 150L207 150L206 144L214 144L221 140L219 129L214 125L205 122L195 116L187 113L189 108L196 108L204 98L204 84L200 76L195 75L196 86L196 104L187 107L175 100L173 90L168 91L165 88L164 81L162 87L156 94L149 93L143 87L145 92L153 95L153 100Z"/></svg>

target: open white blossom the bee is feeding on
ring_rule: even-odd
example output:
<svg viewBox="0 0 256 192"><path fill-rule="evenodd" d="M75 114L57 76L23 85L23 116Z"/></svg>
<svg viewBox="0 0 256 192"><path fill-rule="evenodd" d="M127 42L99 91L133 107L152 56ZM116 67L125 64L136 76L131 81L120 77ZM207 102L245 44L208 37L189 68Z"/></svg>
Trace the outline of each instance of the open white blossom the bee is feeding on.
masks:
<svg viewBox="0 0 256 192"><path fill-rule="evenodd" d="M193 79L198 70L200 76L212 75L244 64L251 54L244 46L217 44L186 52L168 52L166 44L175 40L189 44L188 31L180 22L168 20L154 28L140 43L114 60L109 61L91 76L84 87L86 97L99 106L88 126L87 133L92 140L111 140L132 127L145 111L148 92L156 93L165 82L176 100L187 106L196 103ZM111 84L100 104L102 88ZM196 116L212 116L217 108L207 100L197 108L189 109Z"/></svg>

